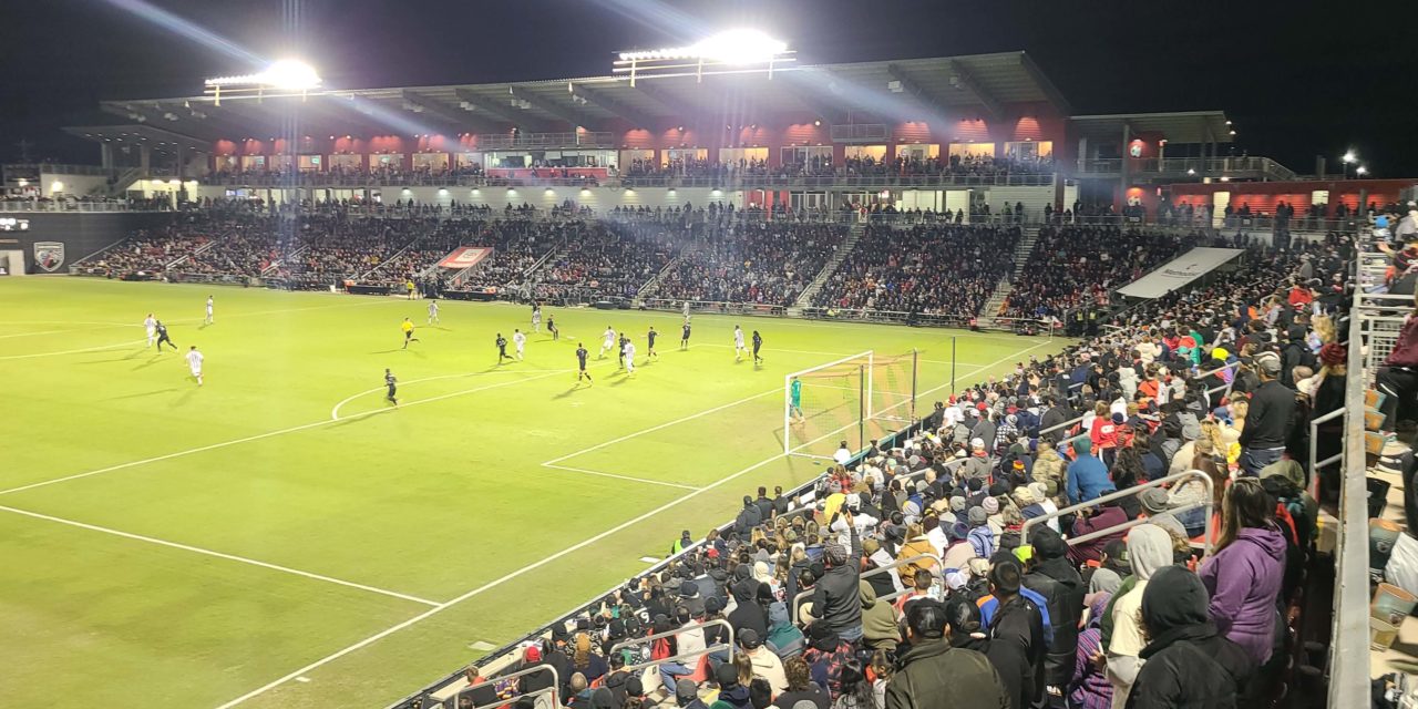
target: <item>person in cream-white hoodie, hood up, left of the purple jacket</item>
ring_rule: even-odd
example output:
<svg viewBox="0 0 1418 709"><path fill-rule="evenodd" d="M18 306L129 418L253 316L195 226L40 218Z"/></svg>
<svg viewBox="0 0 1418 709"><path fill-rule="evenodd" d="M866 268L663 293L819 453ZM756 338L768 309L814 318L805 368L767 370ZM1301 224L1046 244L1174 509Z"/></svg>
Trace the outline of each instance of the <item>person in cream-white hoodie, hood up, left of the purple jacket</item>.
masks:
<svg viewBox="0 0 1418 709"><path fill-rule="evenodd" d="M1137 583L1113 601L1113 637L1107 644L1107 681L1113 685L1113 709L1127 705L1127 692L1141 669L1147 635L1141 625L1143 591L1159 569L1171 566L1171 535L1157 525L1137 525L1127 533L1127 560Z"/></svg>

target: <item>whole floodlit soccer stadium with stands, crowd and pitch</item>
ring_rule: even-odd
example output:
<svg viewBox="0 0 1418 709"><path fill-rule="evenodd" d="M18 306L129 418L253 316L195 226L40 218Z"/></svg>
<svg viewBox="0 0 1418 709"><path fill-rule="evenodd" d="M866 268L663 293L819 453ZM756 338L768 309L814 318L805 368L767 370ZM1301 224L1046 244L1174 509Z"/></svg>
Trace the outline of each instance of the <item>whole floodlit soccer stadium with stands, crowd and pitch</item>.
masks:
<svg viewBox="0 0 1418 709"><path fill-rule="evenodd" d="M1027 51L613 50L4 164L0 703L1418 698L1418 179Z"/></svg>

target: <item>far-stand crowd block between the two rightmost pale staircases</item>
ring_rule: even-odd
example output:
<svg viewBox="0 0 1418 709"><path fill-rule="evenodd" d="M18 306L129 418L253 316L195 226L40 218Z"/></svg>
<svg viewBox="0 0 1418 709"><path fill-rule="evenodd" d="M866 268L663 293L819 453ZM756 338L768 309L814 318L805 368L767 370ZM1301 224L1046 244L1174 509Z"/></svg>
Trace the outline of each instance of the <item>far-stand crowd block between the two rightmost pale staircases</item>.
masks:
<svg viewBox="0 0 1418 709"><path fill-rule="evenodd" d="M1018 227L866 227L814 305L973 318L1014 268Z"/></svg>

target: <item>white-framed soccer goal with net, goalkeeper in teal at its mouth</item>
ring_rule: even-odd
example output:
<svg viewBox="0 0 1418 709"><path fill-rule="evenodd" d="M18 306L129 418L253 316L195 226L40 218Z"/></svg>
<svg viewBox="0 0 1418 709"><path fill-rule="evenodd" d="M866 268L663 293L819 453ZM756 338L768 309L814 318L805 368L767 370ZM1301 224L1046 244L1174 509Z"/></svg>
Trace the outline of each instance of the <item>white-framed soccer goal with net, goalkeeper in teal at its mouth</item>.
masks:
<svg viewBox="0 0 1418 709"><path fill-rule="evenodd" d="M861 352L783 377L783 452L831 458L845 441L871 440L910 425L916 415L916 350Z"/></svg>

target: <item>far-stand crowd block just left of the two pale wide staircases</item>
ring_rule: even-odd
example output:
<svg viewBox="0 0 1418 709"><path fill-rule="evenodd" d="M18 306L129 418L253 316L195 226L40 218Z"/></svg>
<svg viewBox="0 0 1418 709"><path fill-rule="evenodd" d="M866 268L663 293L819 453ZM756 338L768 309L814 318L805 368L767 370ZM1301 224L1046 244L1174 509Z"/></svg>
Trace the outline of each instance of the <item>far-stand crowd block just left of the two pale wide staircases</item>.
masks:
<svg viewBox="0 0 1418 709"><path fill-rule="evenodd" d="M847 227L747 221L705 231L657 284L675 301L793 305L842 244Z"/></svg>

